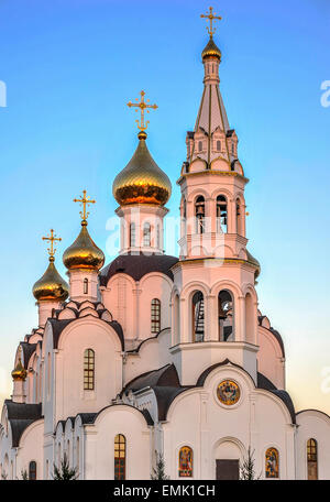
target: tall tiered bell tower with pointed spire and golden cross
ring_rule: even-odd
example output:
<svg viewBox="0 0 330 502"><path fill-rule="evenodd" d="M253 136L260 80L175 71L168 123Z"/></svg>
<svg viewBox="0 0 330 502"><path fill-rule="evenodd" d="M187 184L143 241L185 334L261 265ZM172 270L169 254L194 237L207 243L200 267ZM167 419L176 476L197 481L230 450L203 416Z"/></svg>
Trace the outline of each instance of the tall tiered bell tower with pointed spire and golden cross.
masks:
<svg viewBox="0 0 330 502"><path fill-rule="evenodd" d="M210 8L209 41L202 51L204 91L187 159L177 184L180 259L173 268L173 347L182 384L229 359L256 379L258 262L246 249L244 188L249 179L238 157L219 88L221 51ZM199 361L198 368L196 362Z"/></svg>

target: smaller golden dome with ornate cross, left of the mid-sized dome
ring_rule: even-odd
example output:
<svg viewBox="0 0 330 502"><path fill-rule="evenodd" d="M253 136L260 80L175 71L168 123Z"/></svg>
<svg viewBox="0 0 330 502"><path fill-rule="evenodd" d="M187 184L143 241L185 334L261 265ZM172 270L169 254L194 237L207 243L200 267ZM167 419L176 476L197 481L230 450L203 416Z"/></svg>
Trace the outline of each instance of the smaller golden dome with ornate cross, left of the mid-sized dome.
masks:
<svg viewBox="0 0 330 502"><path fill-rule="evenodd" d="M44 275L36 281L32 292L37 302L64 302L68 297L68 284L59 275L54 264L55 262L55 251L54 242L61 241L61 238L56 238L54 230L51 230L50 237L43 237L43 240L51 242L48 249L50 253L50 264L44 273Z"/></svg>

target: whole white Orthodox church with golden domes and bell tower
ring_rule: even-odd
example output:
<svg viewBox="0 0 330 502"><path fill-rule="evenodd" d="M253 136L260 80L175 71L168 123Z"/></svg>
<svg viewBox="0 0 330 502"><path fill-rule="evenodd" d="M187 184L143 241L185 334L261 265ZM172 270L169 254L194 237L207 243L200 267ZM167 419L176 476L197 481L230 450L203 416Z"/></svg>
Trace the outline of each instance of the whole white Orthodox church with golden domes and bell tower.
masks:
<svg viewBox="0 0 330 502"><path fill-rule="evenodd" d="M64 456L80 480L148 480L161 456L170 480L330 479L330 417L297 412L285 347L258 309L238 135L220 92L210 8L204 87L178 171L179 257L164 252L172 184L147 148L141 92L138 146L113 181L118 257L88 229L95 200L75 199L81 228L34 284L37 327L20 342L0 425L0 478L53 479ZM195 106L195 103L191 103ZM100 179L100 183L102 181ZM90 233L89 233L90 232Z"/></svg>

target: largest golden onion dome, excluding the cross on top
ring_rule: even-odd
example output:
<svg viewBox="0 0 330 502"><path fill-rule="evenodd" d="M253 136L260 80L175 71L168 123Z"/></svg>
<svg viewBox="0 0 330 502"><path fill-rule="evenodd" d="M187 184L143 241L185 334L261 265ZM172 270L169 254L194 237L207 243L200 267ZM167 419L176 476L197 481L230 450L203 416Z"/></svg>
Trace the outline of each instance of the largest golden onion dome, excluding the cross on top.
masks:
<svg viewBox="0 0 330 502"><path fill-rule="evenodd" d="M151 156L145 143L146 133L142 131L138 138L140 141L134 155L114 178L113 196L120 206L164 206L170 197L170 181Z"/></svg>

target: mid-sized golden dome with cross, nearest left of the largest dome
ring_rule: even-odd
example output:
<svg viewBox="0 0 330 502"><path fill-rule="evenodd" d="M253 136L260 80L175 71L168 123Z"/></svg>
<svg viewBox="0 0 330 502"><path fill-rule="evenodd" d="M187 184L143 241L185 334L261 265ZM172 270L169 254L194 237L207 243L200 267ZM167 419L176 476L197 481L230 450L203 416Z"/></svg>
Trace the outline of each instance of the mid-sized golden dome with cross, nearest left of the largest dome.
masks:
<svg viewBox="0 0 330 502"><path fill-rule="evenodd" d="M84 207L80 211L81 230L75 242L65 250L63 263L68 270L100 270L105 263L105 254L94 242L87 230L88 212L86 206L95 204L89 197L86 197L86 190L82 192L80 199L74 199L74 203L80 203Z"/></svg>

